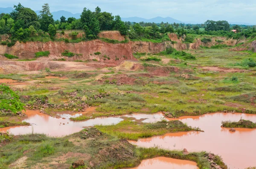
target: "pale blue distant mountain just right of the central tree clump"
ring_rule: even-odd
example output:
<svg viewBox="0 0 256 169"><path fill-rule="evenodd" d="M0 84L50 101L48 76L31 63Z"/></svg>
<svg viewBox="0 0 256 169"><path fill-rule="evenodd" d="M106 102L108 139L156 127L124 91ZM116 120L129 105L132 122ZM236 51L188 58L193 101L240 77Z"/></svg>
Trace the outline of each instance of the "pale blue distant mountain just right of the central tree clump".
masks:
<svg viewBox="0 0 256 169"><path fill-rule="evenodd" d="M139 22L151 22L151 23L183 23L182 21L180 20L176 20L176 19L173 19L172 17L154 17L154 18L151 18L151 19L145 19L145 18L142 18L142 17L122 17L122 21L124 22L136 22L136 23L139 23Z"/></svg>

